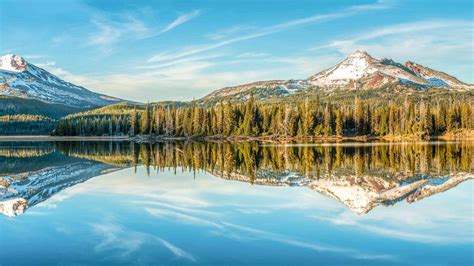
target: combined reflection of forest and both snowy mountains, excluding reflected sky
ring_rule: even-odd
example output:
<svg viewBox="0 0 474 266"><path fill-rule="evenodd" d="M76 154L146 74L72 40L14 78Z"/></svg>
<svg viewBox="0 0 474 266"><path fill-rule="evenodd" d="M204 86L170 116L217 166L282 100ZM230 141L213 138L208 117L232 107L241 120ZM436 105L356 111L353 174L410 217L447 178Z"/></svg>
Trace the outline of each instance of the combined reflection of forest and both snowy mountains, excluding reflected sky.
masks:
<svg viewBox="0 0 474 266"><path fill-rule="evenodd" d="M472 179L473 143L0 143L0 212L22 214L94 176L143 165L266 186L304 186L357 213L414 202ZM209 188L212 189L212 188Z"/></svg>

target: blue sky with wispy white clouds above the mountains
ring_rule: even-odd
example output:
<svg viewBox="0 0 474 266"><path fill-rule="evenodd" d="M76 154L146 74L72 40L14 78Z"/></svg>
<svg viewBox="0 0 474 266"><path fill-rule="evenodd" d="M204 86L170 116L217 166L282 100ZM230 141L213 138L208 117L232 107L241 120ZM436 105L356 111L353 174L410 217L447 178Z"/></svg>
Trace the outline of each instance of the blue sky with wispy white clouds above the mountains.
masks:
<svg viewBox="0 0 474 266"><path fill-rule="evenodd" d="M473 83L472 1L1 0L0 52L91 90L190 100L357 49Z"/></svg>

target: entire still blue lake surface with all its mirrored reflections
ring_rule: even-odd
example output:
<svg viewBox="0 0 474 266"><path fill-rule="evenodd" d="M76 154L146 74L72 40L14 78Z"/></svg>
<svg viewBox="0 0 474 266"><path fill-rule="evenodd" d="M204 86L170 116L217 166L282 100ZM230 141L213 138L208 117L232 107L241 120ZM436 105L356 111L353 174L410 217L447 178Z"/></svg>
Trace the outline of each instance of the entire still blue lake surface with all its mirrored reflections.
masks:
<svg viewBox="0 0 474 266"><path fill-rule="evenodd" d="M0 265L473 265L473 155L0 142Z"/></svg>

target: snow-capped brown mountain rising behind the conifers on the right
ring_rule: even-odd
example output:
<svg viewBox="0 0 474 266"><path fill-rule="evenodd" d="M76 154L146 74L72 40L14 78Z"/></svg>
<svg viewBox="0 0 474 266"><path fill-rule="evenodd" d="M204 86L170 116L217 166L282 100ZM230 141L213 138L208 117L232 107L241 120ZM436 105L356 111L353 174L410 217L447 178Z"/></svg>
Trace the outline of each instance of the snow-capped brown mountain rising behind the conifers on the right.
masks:
<svg viewBox="0 0 474 266"><path fill-rule="evenodd" d="M331 91L333 89L368 90L386 86L414 89L445 88L451 91L474 90L444 72L436 71L408 61L405 64L391 59L376 59L367 52L356 51L339 64L303 80L270 80L226 87L205 96L203 100L223 97L248 97L248 94L286 96L308 88Z"/></svg>

